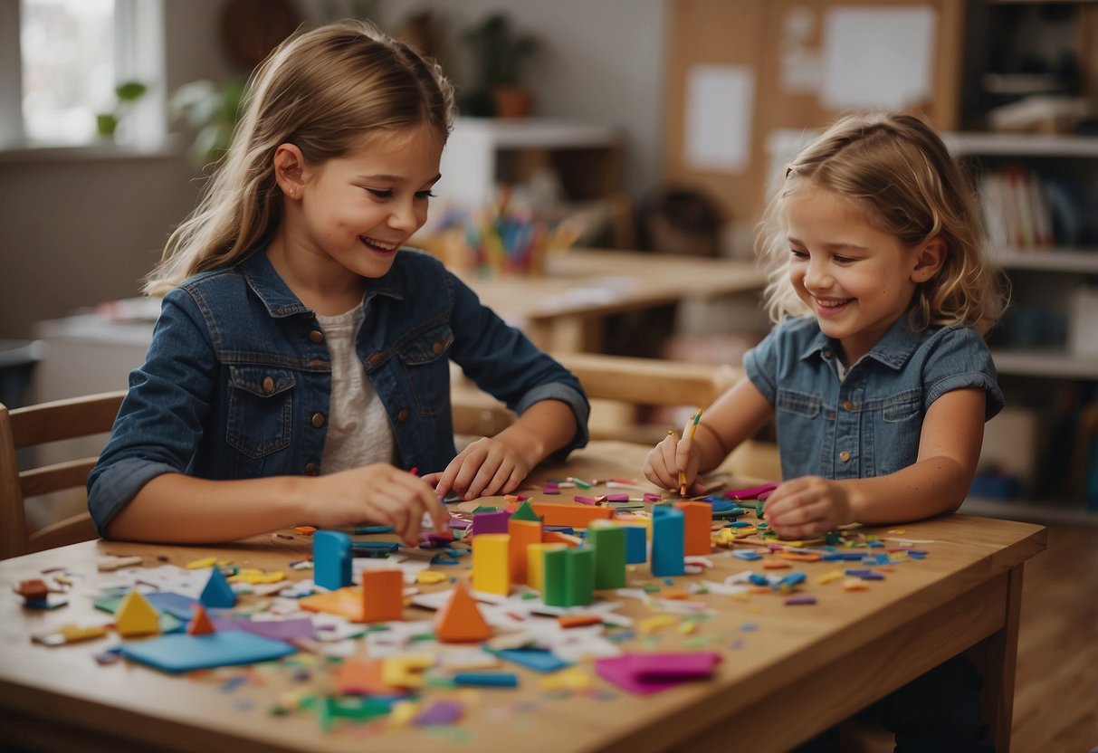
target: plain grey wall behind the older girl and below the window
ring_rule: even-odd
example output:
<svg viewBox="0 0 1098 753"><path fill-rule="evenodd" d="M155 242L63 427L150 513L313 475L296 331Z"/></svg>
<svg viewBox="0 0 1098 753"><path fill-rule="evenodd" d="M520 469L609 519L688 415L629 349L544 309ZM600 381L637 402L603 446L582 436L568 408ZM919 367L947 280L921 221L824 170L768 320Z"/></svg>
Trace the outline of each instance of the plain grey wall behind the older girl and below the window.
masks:
<svg viewBox="0 0 1098 753"><path fill-rule="evenodd" d="M311 8L333 3L302 0ZM336 3L338 4L338 3ZM352 4L352 3L351 3ZM457 35L494 10L536 34L528 79L537 113L620 125L626 184L637 198L659 179L663 0L382 0L394 31L430 9L451 30L451 78L468 81ZM167 88L232 72L219 42L224 0L168 0ZM0 338L34 322L138 292L170 228L192 209L197 171L181 155L43 161L0 155Z"/></svg>

